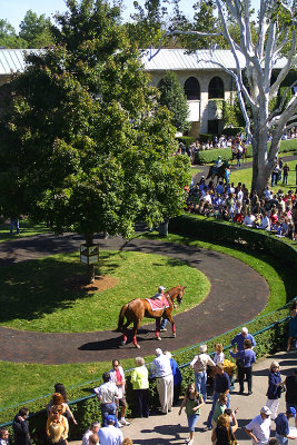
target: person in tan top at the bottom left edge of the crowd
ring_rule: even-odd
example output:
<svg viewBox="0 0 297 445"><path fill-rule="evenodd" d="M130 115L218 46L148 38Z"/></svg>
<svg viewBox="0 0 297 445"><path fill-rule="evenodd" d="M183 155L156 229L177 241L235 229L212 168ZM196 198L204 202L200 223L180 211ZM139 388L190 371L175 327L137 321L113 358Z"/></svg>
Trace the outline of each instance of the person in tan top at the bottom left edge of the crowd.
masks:
<svg viewBox="0 0 297 445"><path fill-rule="evenodd" d="M49 445L67 445L69 425L67 418L61 413L61 407L52 406L52 412L47 421L47 436Z"/></svg>

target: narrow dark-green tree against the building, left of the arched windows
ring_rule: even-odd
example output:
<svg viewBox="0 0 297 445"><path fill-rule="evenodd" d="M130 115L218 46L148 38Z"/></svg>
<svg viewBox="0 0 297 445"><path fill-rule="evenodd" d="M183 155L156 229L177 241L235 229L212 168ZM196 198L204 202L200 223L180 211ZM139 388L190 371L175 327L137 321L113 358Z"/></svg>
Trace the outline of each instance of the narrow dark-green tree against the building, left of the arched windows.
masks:
<svg viewBox="0 0 297 445"><path fill-rule="evenodd" d="M167 72L159 83L160 103L166 106L172 113L172 123L177 131L185 132L190 128L189 108L184 88L178 81L175 72Z"/></svg>

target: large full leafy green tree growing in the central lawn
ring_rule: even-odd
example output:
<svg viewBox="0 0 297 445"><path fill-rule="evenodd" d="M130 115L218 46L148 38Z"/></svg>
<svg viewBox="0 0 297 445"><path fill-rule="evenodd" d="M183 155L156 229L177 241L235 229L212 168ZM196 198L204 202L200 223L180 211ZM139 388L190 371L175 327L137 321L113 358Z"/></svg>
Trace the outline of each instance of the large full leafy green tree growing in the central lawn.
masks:
<svg viewBox="0 0 297 445"><path fill-rule="evenodd" d="M184 208L186 157L139 53L102 0L68 0L57 46L28 57L0 120L0 206L53 229L130 237ZM13 194L11 192L13 191ZM89 279L93 268L88 269Z"/></svg>

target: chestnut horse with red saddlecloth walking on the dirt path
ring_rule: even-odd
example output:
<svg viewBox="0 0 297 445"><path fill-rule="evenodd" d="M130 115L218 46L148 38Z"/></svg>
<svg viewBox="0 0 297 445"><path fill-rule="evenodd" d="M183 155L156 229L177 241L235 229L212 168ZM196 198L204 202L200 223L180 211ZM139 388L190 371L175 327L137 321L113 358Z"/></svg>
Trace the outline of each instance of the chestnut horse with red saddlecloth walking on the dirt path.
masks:
<svg viewBox="0 0 297 445"><path fill-rule="evenodd" d="M169 307L164 308L164 309L158 309L158 310L151 310L150 304L146 298L136 298L132 299L131 301L127 303L126 305L122 306L120 309L120 315L119 315L119 323L118 323L118 328L117 332L122 333L122 342L121 345L126 345L127 342L127 327L132 323L133 328L132 328L132 342L133 345L138 348L140 346L137 343L136 339L136 334L139 328L140 322L142 320L143 317L147 318L156 318L156 337L158 340L160 340L160 322L161 317L167 318L172 326L172 336L176 336L176 326L175 322L172 318L172 310L175 307L175 299L177 299L178 304L182 301L182 296L185 293L186 286L177 286L174 287L172 289L168 290L165 293L165 297L168 301ZM127 322L123 324L123 318L127 318Z"/></svg>

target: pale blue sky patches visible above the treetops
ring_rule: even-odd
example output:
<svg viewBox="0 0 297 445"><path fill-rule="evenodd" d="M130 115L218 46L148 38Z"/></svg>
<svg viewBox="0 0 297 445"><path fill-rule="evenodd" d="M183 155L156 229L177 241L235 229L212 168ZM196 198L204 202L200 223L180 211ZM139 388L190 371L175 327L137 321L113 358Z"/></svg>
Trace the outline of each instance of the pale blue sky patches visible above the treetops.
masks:
<svg viewBox="0 0 297 445"><path fill-rule="evenodd" d="M139 0L139 3L143 1ZM251 0L253 8L257 9L260 0ZM190 17L192 14L192 4L195 1L181 0L180 9L182 12ZM133 12L133 0L123 0L126 20L129 19L131 12ZM0 19L6 19L11 23L17 32L19 31L19 24L22 21L26 12L31 9L38 16L42 13L46 17L51 17L55 12L65 12L66 6L63 0L0 0Z"/></svg>

